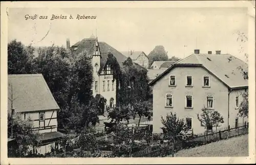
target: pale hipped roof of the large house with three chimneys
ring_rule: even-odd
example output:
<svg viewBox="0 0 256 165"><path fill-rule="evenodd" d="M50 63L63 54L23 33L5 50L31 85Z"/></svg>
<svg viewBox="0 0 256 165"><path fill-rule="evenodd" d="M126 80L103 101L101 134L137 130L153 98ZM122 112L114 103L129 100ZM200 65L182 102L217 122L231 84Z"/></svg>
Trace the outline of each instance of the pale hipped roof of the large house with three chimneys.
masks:
<svg viewBox="0 0 256 165"><path fill-rule="evenodd" d="M243 69L248 69L248 65L230 54L192 54L175 62L171 67L165 70L163 74L153 80L150 85L154 85L154 83L160 80L165 74L169 73L174 67L188 65L202 66L229 88L248 86L248 80L243 78L241 69L239 69L240 66Z"/></svg>

